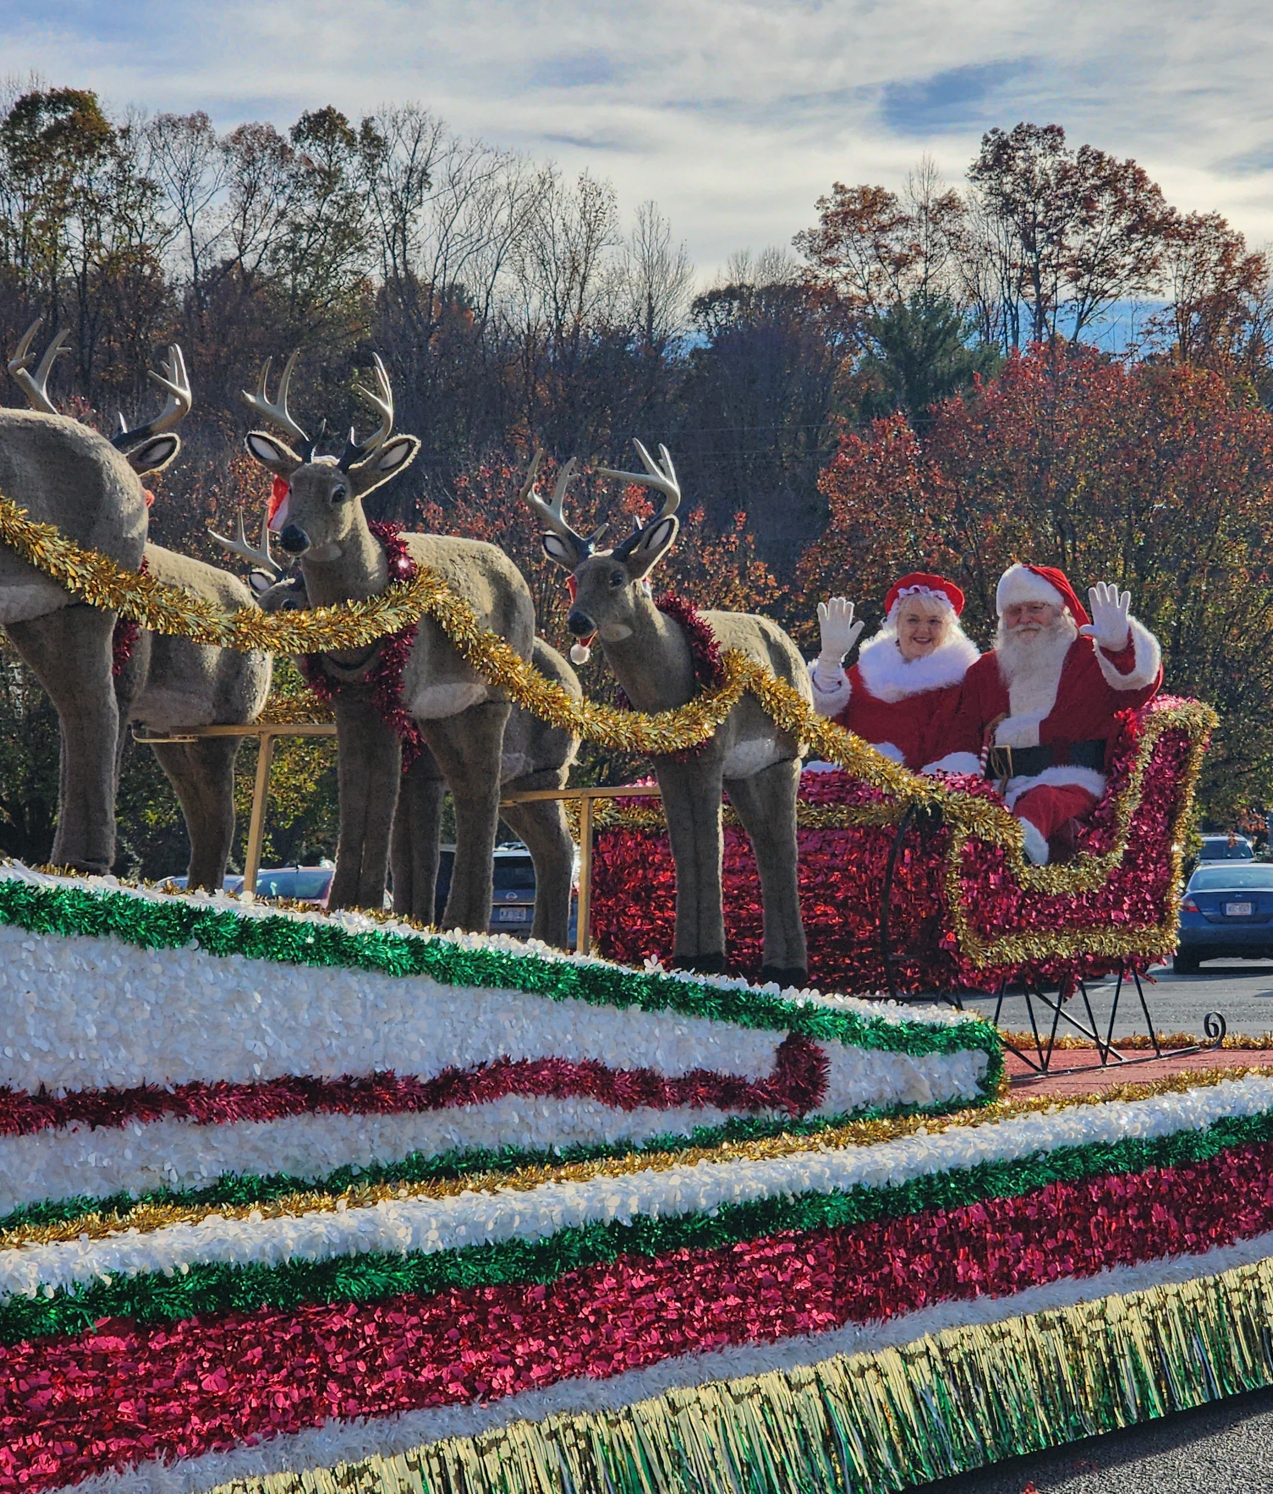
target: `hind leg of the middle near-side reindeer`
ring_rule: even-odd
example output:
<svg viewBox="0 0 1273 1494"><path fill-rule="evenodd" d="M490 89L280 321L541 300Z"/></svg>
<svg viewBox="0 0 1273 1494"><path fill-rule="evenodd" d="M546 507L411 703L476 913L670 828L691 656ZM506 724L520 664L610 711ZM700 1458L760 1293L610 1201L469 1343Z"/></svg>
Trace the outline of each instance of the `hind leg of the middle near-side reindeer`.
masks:
<svg viewBox="0 0 1273 1494"><path fill-rule="evenodd" d="M456 865L442 928L477 934L490 928L499 760L508 716L508 705L484 701L459 716L420 722L456 804Z"/></svg>

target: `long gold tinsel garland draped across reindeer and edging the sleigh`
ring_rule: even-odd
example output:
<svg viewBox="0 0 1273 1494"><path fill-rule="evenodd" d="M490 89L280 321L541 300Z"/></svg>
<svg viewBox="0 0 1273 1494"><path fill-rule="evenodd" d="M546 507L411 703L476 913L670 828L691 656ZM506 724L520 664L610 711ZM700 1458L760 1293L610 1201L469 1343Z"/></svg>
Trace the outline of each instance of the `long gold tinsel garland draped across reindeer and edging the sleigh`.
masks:
<svg viewBox="0 0 1273 1494"><path fill-rule="evenodd" d="M85 550L54 524L31 520L25 509L3 495L0 542L93 607L115 611L149 632L244 653L260 650L305 654L359 648L427 617L487 684L504 690L511 701L551 726L611 750L657 757L698 747L711 737L743 695L750 693L780 731L891 798L896 817L913 805L943 814L953 831L946 859L953 932L965 955L979 965L1041 958L1040 937L1009 935L988 943L976 934L959 886L967 841L977 838L1003 847L1013 877L1026 890L1062 896L1092 892L1122 861L1128 828L1140 807L1145 772L1159 735L1171 728L1182 728L1191 738L1177 795L1177 808L1183 811L1194 793L1203 746L1216 725L1215 711L1198 702L1155 711L1137 744L1127 789L1119 795L1116 834L1110 849L1100 855L1085 852L1059 867L1034 867L1022 850L1020 825L1003 804L949 789L937 778L925 778L891 762L852 732L817 716L790 684L734 648L722 654L720 683L702 690L686 705L657 714L620 711L596 701L575 701L556 681L544 678L505 639L483 627L469 604L426 566L420 566L412 581L394 583L381 596L363 602L341 602L300 613L266 614L257 607L223 613L182 587L164 586L154 577L120 566L109 556ZM1176 887L1180 862L1182 849L1176 846L1171 867ZM1170 917L1174 926L1174 899ZM1153 929L1055 931L1049 935L1046 953L1068 953L1071 946L1076 953L1158 953L1164 932L1165 925Z"/></svg>

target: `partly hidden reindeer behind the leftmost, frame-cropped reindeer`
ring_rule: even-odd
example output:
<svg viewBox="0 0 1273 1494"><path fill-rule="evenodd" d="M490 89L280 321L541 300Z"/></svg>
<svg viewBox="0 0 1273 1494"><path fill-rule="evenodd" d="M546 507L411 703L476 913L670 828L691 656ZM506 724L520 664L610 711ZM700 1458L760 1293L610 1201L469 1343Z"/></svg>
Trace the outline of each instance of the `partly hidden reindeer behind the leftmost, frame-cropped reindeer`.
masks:
<svg viewBox="0 0 1273 1494"><path fill-rule="evenodd" d="M63 351L66 333L58 333L49 344L33 375L28 350L37 327L39 323L28 329L9 369L33 408L57 415L48 394L48 375L54 359ZM181 371L181 382L185 384L179 350L173 350L170 368L173 372ZM121 430L115 438L118 450L137 477L166 466L179 448L175 435L155 433L152 426L130 432L123 417L120 424ZM223 611L251 605L251 590L226 571L151 542L146 542L143 556L149 574L166 586L185 587ZM176 735L193 726L251 722L260 714L269 695L272 666L272 657L263 653L245 654L233 648L196 644L188 638L145 630L139 633L131 657L115 678L120 722L115 784L130 722L155 735ZM242 738L238 737L152 744L185 816L191 887L220 890L226 877L226 862L235 840L235 759L241 746ZM57 861L55 853L54 862Z"/></svg>

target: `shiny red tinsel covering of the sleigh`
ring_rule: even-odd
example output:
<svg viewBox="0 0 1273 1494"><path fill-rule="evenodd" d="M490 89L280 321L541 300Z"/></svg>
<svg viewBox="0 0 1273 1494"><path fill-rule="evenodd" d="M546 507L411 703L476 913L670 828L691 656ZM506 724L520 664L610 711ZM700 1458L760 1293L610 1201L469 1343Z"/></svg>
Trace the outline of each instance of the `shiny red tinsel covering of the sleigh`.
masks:
<svg viewBox="0 0 1273 1494"><path fill-rule="evenodd" d="M1174 704L1159 698L1158 707ZM1122 713L1110 750L1109 789L1080 832L1080 849L1113 846L1118 798L1134 768L1142 713ZM986 941L1004 934L1055 934L1119 925L1164 923L1171 895L1171 823L1191 744L1183 731L1164 732L1145 774L1119 867L1097 889L1046 895L1023 889L1000 846L970 840L961 861L962 899L973 931ZM983 778L959 780L970 793L994 798ZM888 810L879 790L847 772L805 772L799 790L810 805ZM843 826L799 831L801 913L808 937L810 980L828 991L882 991L880 893L893 828ZM995 991L1001 980L1028 976L1056 983L1092 979L1122 964L1116 958L1049 958L1031 967L983 968L961 956L946 905L944 861L949 831L907 837L898 858L889 908L891 947L899 991ZM641 896L632 896L632 887ZM675 925L675 868L659 829L604 829L593 852L592 928L601 953L623 964L669 959ZM752 844L741 829L725 831L725 923L731 968L756 973L762 964L764 911ZM1128 962L1133 964L1133 962ZM1142 968L1147 961L1136 961Z"/></svg>

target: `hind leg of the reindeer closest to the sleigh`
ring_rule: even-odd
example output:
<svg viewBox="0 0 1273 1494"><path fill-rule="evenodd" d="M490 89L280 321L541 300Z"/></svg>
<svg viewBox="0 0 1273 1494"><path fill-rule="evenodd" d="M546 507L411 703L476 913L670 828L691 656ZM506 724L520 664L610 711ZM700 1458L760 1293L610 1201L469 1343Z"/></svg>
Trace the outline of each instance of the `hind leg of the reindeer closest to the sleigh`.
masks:
<svg viewBox="0 0 1273 1494"><path fill-rule="evenodd" d="M729 802L756 853L761 899L765 907L765 964L762 980L780 986L808 983L808 955L799 914L799 849L796 844L796 789L799 762L775 762L750 778L725 783Z"/></svg>

